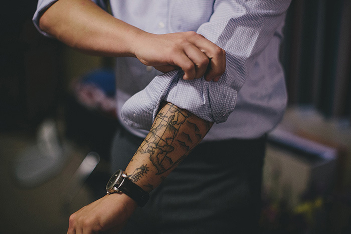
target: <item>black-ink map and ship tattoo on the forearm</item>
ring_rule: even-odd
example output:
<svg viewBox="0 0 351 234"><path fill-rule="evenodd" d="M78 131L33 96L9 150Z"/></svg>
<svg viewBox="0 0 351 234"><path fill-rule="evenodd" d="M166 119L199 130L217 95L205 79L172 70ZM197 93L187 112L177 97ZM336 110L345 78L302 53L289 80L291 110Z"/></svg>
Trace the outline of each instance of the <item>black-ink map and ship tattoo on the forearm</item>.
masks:
<svg viewBox="0 0 351 234"><path fill-rule="evenodd" d="M212 123L166 103L135 156L146 156L161 175L177 166L202 140ZM146 165L145 165L146 167ZM148 169L138 168L131 178L138 180Z"/></svg>

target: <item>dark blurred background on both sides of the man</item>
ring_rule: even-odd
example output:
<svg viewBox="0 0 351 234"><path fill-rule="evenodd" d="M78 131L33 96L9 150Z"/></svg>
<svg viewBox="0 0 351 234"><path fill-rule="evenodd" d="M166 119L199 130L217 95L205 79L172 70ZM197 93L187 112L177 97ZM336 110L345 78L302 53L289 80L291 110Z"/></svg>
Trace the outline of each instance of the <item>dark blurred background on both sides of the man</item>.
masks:
<svg viewBox="0 0 351 234"><path fill-rule="evenodd" d="M41 36L36 4L7 1L1 15L0 233L65 233L105 194L118 128L113 60ZM350 0L288 10L289 107L269 136L262 233L351 233L350 29Z"/></svg>

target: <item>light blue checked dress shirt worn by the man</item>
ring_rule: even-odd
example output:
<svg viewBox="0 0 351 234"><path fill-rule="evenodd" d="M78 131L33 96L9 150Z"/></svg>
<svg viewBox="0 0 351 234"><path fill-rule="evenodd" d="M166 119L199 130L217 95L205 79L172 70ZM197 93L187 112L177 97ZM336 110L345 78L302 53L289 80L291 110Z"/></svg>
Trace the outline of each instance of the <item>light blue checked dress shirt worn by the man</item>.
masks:
<svg viewBox="0 0 351 234"><path fill-rule="evenodd" d="M39 31L38 13L53 2L38 2L33 22ZM94 2L105 8L104 1ZM226 70L218 82L185 81L181 70L162 74L136 58L117 58L117 110L122 124L145 136L166 100L218 123L205 141L254 138L274 128L287 101L278 54L289 4L290 0L110 1L116 18L142 30L196 31L226 51Z"/></svg>

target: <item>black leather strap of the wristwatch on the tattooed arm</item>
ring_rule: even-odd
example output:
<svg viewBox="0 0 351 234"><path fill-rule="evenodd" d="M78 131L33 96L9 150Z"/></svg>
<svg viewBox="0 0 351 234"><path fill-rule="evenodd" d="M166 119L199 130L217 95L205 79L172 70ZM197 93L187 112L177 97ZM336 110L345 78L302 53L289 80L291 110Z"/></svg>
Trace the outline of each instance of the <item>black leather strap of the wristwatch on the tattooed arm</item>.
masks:
<svg viewBox="0 0 351 234"><path fill-rule="evenodd" d="M124 179L118 189L135 200L140 207L144 207L150 198L149 193L145 192L141 187L133 183L129 178L125 177L124 174L123 178Z"/></svg>

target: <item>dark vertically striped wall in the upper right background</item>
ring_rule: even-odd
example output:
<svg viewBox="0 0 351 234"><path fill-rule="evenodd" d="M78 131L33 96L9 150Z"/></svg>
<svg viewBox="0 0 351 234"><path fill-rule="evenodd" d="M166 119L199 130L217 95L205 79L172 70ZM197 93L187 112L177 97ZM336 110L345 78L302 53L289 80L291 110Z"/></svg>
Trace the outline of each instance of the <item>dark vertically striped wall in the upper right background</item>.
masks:
<svg viewBox="0 0 351 234"><path fill-rule="evenodd" d="M351 119L351 1L293 0L281 61L290 105Z"/></svg>

